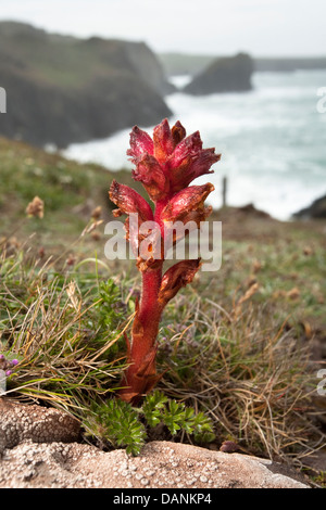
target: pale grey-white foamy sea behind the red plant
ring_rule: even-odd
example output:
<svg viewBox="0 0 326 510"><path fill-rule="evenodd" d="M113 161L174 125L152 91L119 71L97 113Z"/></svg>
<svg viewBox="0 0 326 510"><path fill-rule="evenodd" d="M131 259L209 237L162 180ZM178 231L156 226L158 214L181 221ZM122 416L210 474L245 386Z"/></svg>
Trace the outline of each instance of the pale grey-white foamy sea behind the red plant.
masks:
<svg viewBox="0 0 326 510"><path fill-rule="evenodd" d="M189 76L171 80L177 91L165 98L170 124L180 120L188 135L199 130L203 148L222 154L214 174L193 181L215 186L208 203L221 207L224 177L227 205L253 204L280 220L326 194L326 71L254 73L249 92L202 97L181 92ZM152 127L143 129L151 133ZM111 170L131 169L130 128L74 143L63 154Z"/></svg>

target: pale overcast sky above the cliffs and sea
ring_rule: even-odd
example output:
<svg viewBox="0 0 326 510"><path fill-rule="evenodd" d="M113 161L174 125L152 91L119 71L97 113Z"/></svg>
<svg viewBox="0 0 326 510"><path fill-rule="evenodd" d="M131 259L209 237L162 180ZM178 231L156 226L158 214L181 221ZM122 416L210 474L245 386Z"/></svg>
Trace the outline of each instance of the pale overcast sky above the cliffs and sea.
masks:
<svg viewBox="0 0 326 510"><path fill-rule="evenodd" d="M0 0L0 20L158 52L326 54L326 0Z"/></svg>

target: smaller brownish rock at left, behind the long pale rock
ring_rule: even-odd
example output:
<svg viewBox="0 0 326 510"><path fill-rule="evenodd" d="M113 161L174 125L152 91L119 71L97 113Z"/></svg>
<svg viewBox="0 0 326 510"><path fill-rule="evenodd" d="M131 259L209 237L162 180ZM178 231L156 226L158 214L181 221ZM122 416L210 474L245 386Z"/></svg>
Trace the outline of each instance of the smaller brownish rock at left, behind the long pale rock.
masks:
<svg viewBox="0 0 326 510"><path fill-rule="evenodd" d="M67 443L79 435L79 422L59 409L0 398L0 455L25 439Z"/></svg>

